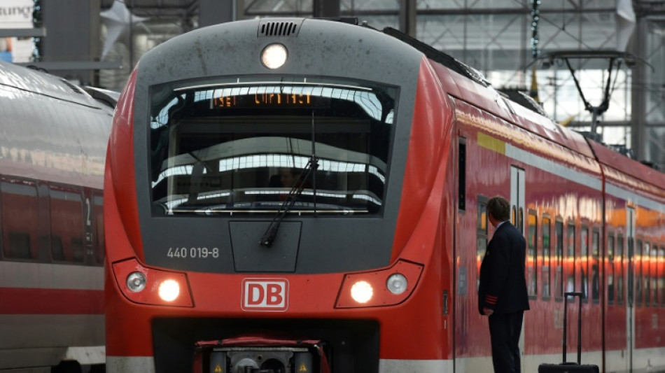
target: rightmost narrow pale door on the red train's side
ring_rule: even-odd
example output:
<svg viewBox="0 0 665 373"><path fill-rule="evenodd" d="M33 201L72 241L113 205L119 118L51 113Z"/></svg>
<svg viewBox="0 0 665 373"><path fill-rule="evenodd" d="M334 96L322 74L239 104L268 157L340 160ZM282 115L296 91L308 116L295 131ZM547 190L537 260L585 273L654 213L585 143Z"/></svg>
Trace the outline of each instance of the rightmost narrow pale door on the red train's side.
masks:
<svg viewBox="0 0 665 373"><path fill-rule="evenodd" d="M628 292L626 302L626 346L628 349L628 371L633 371L633 349L635 349L635 208L626 208L626 241L628 243Z"/></svg>

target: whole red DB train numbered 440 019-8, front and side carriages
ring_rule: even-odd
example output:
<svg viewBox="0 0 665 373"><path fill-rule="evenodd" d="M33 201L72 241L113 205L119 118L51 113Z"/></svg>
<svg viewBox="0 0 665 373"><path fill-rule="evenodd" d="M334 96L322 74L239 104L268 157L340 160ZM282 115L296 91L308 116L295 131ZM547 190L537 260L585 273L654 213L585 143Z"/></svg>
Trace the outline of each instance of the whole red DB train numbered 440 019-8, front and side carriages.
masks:
<svg viewBox="0 0 665 373"><path fill-rule="evenodd" d="M132 73L106 160L109 372L491 371L493 195L528 241L523 371L561 360L568 290L584 363L665 367L665 175L393 29L178 36Z"/></svg>

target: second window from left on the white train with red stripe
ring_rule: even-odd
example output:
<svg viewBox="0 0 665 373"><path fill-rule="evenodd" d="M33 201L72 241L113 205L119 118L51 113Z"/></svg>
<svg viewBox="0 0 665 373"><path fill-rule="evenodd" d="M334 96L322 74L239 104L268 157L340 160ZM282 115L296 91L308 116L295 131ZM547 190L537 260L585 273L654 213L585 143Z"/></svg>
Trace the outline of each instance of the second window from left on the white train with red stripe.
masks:
<svg viewBox="0 0 665 373"><path fill-rule="evenodd" d="M83 262L83 196L80 188L50 185L51 255L56 262Z"/></svg>

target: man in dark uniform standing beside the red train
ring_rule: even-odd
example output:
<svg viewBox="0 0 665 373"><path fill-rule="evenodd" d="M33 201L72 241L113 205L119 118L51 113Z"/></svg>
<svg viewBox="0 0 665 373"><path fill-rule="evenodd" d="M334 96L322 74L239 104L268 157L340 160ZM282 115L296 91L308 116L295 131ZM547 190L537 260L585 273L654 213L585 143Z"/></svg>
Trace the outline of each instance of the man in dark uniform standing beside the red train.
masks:
<svg viewBox="0 0 665 373"><path fill-rule="evenodd" d="M487 213L495 229L480 265L478 311L489 316L494 372L519 373L519 335L524 311L528 309L526 240L508 221L507 199L489 199Z"/></svg>

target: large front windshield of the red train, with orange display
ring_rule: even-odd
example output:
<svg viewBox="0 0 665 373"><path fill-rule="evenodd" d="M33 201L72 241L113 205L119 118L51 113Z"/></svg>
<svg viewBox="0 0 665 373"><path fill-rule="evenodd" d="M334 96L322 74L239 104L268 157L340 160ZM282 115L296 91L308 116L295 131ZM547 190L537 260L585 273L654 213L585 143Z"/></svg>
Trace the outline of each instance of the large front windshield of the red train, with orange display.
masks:
<svg viewBox="0 0 665 373"><path fill-rule="evenodd" d="M197 83L151 88L153 215L383 211L395 87Z"/></svg>

